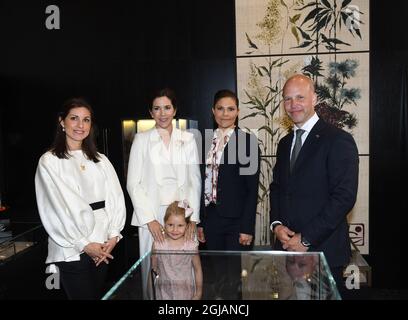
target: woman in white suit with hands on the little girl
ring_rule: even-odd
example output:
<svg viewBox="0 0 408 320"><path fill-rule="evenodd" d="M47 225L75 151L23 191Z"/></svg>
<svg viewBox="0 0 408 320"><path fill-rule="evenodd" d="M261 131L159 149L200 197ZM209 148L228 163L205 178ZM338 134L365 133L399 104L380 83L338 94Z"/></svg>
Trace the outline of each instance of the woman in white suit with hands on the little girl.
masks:
<svg viewBox="0 0 408 320"><path fill-rule="evenodd" d="M156 125L136 134L127 175L127 190L134 208L131 224L139 227L140 257L151 250L153 240L164 241L163 217L174 201L186 199L193 208L192 228L188 232L191 238L199 223L201 196L194 136L172 125L177 112L174 92L168 88L157 91L149 109ZM146 260L142 265L145 295L149 269Z"/></svg>

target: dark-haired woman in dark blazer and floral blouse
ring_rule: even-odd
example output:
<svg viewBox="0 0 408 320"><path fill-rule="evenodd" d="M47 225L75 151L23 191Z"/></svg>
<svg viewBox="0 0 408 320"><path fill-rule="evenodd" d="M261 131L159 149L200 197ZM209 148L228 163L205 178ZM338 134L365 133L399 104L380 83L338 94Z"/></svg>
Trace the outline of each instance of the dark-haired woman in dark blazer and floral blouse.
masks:
<svg viewBox="0 0 408 320"><path fill-rule="evenodd" d="M203 205L198 239L208 250L248 250L253 245L259 182L258 140L239 129L239 102L218 91L212 111L218 128L205 143Z"/></svg>

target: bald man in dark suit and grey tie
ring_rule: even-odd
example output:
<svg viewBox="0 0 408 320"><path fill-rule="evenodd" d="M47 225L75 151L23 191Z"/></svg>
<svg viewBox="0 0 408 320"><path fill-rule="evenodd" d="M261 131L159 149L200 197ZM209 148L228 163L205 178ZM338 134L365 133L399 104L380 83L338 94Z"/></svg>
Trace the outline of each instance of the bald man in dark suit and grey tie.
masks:
<svg viewBox="0 0 408 320"><path fill-rule="evenodd" d="M358 186L358 151L353 137L319 119L311 79L295 75L283 88L294 122L277 149L270 187L275 249L323 251L339 289L351 249L347 214Z"/></svg>

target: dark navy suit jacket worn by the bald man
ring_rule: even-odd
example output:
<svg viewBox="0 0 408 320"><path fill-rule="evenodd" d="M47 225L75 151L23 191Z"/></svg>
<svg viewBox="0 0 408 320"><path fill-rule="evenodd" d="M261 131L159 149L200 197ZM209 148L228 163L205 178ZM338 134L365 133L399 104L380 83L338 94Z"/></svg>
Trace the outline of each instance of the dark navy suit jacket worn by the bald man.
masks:
<svg viewBox="0 0 408 320"><path fill-rule="evenodd" d="M346 216L357 196L357 146L349 133L319 119L290 174L292 139L293 132L278 145L270 221L301 233L312 244L309 251L323 251L331 267L343 266L351 254Z"/></svg>

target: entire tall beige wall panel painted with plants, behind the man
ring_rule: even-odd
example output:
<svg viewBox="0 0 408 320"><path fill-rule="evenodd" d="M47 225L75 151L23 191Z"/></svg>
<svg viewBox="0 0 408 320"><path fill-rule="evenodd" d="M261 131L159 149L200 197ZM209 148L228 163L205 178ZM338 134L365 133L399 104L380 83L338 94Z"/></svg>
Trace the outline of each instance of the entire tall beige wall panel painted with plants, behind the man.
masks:
<svg viewBox="0 0 408 320"><path fill-rule="evenodd" d="M315 82L319 116L356 140L362 160L350 236L368 253L369 1L236 0L235 7L240 126L258 129L263 156L256 244L270 240L270 171L292 126L282 86L303 73Z"/></svg>

